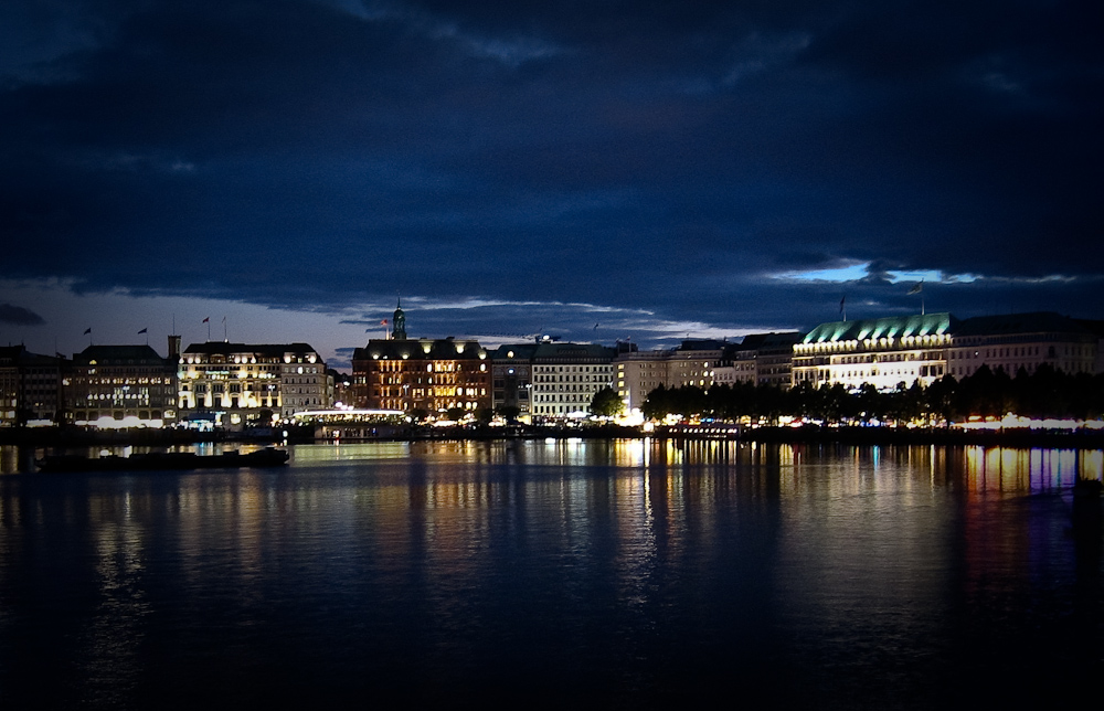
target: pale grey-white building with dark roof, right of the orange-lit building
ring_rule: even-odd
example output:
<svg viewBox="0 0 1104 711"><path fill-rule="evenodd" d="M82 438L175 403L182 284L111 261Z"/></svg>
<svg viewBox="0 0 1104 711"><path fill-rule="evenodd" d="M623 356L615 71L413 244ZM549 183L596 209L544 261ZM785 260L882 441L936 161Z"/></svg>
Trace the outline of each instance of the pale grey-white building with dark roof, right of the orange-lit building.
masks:
<svg viewBox="0 0 1104 711"><path fill-rule="evenodd" d="M594 394L614 386L615 354L615 349L594 343L540 342L533 351L533 417L588 414Z"/></svg>

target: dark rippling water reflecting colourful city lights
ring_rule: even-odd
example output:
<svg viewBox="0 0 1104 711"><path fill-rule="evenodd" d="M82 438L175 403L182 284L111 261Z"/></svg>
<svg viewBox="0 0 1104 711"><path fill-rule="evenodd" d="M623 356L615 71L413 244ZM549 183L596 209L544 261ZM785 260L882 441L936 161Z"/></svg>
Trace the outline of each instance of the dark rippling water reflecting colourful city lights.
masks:
<svg viewBox="0 0 1104 711"><path fill-rule="evenodd" d="M1057 703L1104 671L1104 453L381 443L0 452L0 708ZM1094 697L1098 698L1098 697Z"/></svg>

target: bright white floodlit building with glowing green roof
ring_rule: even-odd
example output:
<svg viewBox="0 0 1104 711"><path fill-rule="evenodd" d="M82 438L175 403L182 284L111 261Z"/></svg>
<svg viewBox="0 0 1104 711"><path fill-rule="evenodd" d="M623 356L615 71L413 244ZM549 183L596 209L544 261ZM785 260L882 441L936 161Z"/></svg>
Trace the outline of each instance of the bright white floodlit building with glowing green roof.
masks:
<svg viewBox="0 0 1104 711"><path fill-rule="evenodd" d="M946 372L957 323L949 314L821 323L794 344L793 384L927 385Z"/></svg>

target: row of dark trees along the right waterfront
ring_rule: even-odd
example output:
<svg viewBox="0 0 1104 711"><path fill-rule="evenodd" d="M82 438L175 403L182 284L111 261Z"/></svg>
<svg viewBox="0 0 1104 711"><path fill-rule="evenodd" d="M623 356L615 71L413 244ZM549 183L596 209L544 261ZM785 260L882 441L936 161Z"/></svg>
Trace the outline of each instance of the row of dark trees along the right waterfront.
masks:
<svg viewBox="0 0 1104 711"><path fill-rule="evenodd" d="M1068 374L1049 365L1015 378L1004 370L983 365L962 380L944 375L924 388L919 382L900 383L892 392L879 392L867 383L856 391L840 384L816 388L809 383L783 390L772 385L736 383L651 391L641 408L646 417L668 414L736 421L751 417L777 422L782 416L824 423L924 422L941 425L969 416L1008 413L1034 418L1096 420L1104 416L1104 375Z"/></svg>

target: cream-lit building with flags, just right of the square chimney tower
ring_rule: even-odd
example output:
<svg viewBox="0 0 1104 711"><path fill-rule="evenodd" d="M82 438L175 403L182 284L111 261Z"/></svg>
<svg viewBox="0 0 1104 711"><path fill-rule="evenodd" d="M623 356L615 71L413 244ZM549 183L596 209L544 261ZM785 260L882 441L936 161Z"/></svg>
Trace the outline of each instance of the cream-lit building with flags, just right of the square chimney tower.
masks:
<svg viewBox="0 0 1104 711"><path fill-rule="evenodd" d="M330 406L326 362L307 343L193 343L179 371L181 420L238 428Z"/></svg>

